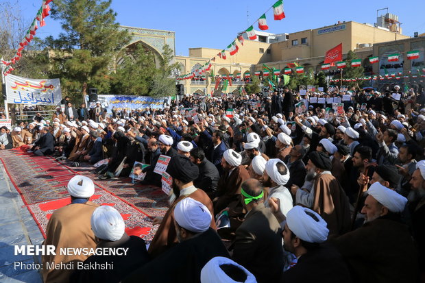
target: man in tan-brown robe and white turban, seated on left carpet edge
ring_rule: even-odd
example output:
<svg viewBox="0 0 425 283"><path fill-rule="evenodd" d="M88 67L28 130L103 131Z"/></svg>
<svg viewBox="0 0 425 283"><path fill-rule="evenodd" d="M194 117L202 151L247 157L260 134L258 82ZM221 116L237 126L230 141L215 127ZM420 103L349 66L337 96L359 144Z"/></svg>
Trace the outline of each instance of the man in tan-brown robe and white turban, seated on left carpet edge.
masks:
<svg viewBox="0 0 425 283"><path fill-rule="evenodd" d="M51 215L46 227L46 239L42 245L54 245L56 255L42 256L42 278L44 282L69 282L73 269L48 269L49 264L83 262L84 254L60 254L61 248L95 248L95 234L90 225L90 217L98 207L88 199L95 193L95 185L88 177L76 175L68 182L71 204L59 208ZM77 268L77 264L73 264Z"/></svg>

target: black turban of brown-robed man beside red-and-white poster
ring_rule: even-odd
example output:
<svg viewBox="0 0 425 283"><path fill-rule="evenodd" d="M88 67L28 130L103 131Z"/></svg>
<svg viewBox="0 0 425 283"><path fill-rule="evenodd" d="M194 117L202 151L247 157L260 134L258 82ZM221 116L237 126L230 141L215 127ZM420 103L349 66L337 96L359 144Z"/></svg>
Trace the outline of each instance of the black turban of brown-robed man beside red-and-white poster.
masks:
<svg viewBox="0 0 425 283"><path fill-rule="evenodd" d="M197 165L193 164L186 156L180 154L171 158L166 172L169 173L173 179L178 179L184 184L192 182L199 175Z"/></svg>

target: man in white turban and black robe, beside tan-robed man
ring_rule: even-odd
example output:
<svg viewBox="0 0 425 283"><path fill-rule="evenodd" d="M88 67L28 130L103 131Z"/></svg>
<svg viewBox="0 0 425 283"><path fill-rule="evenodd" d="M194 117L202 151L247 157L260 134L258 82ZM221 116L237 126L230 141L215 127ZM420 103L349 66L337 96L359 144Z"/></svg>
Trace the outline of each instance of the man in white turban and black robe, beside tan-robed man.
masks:
<svg viewBox="0 0 425 283"><path fill-rule="evenodd" d="M123 255L92 255L83 266L100 264L106 269L78 269L71 282L121 282L127 275L149 262L146 244L138 236L125 233L125 223L118 210L112 206L99 206L91 216L91 229L98 248L125 249ZM109 264L109 265L107 265Z"/></svg>

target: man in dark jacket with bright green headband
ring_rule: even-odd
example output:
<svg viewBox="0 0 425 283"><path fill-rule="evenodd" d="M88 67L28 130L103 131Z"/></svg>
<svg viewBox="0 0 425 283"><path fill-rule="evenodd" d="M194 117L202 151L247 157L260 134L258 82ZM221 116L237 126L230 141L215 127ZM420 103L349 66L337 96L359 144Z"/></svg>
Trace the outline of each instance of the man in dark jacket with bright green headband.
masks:
<svg viewBox="0 0 425 283"><path fill-rule="evenodd" d="M257 282L278 282L284 266L280 224L265 207L258 180L243 182L241 194L247 214L236 230L232 258L252 272Z"/></svg>

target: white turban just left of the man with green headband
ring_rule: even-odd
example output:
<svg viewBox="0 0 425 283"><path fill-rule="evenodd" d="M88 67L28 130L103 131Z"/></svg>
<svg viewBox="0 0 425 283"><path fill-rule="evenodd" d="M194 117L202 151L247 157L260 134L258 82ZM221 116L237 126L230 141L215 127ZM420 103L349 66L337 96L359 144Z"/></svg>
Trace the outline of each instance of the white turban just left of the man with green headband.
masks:
<svg viewBox="0 0 425 283"><path fill-rule="evenodd" d="M210 210L191 197L182 199L174 208L175 221L191 232L205 232L210 227L212 218Z"/></svg>

